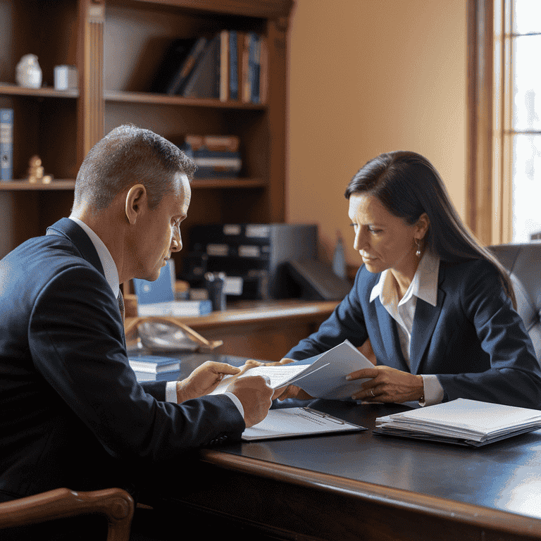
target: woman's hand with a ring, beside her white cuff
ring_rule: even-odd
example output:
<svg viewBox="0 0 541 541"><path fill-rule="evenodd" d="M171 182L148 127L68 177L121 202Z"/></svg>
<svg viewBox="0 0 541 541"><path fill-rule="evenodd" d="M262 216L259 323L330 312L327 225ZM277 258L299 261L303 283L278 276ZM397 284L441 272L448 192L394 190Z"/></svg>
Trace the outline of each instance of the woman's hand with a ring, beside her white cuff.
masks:
<svg viewBox="0 0 541 541"><path fill-rule="evenodd" d="M390 366L363 368L346 376L347 380L370 380L352 395L354 400L366 402L408 402L424 395L423 376L402 372Z"/></svg>

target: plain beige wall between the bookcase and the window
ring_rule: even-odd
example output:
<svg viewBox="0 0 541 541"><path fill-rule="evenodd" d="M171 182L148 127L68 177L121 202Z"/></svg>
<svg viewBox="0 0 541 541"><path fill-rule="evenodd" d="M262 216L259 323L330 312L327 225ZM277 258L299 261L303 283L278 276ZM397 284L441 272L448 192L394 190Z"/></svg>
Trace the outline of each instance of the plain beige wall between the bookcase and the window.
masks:
<svg viewBox="0 0 541 541"><path fill-rule="evenodd" d="M290 223L318 223L320 257L340 231L344 189L381 152L433 162L464 218L466 0L295 0L290 23Z"/></svg>

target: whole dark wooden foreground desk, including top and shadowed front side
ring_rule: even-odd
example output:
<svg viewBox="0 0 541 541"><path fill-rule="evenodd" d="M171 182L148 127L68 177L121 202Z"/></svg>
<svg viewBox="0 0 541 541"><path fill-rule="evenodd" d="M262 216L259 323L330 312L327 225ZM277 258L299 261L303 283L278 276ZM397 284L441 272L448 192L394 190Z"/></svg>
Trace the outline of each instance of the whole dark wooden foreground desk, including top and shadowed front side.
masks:
<svg viewBox="0 0 541 541"><path fill-rule="evenodd" d="M369 429L375 417L404 409L324 400L311 406ZM371 430L231 444L201 451L196 477L178 499L256 536L541 539L541 430L483 449Z"/></svg>

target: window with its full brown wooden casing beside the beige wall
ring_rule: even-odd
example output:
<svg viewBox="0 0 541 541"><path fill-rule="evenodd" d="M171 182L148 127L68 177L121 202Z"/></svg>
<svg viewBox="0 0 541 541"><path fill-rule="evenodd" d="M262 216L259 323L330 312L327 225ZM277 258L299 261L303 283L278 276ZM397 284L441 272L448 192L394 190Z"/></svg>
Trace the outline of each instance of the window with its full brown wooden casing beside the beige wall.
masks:
<svg viewBox="0 0 541 541"><path fill-rule="evenodd" d="M468 223L485 244L541 232L541 1L470 0Z"/></svg>

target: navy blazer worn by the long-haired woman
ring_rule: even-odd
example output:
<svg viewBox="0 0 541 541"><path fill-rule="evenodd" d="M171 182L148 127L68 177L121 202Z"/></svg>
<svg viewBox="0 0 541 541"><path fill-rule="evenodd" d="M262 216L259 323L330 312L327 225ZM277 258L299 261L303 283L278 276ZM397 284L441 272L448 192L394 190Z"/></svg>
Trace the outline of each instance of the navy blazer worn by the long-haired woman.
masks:
<svg viewBox="0 0 541 541"><path fill-rule="evenodd" d="M359 347L370 338L378 364L410 371L396 323L379 298L370 302L379 278L362 266L330 318L285 356L306 359L345 339ZM440 262L437 306L417 299L410 352L411 373L436 374L444 400L541 408L541 373L532 342L487 261Z"/></svg>

